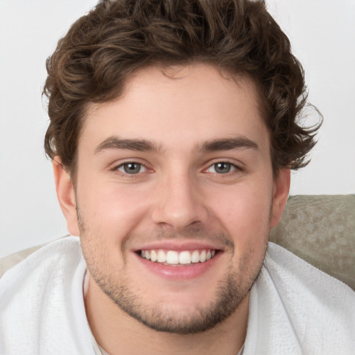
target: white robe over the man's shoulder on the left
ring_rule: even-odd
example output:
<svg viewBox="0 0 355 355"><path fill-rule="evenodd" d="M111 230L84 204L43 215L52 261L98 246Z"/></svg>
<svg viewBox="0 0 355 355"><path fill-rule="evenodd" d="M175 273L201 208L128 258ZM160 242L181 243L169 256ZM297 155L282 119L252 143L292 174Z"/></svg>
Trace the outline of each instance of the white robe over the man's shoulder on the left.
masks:
<svg viewBox="0 0 355 355"><path fill-rule="evenodd" d="M73 352L91 344L83 302L85 271L79 240L71 236L35 250L6 271L0 279L0 353L37 354L41 348L57 354L54 342L67 347L67 353L88 354Z"/></svg>

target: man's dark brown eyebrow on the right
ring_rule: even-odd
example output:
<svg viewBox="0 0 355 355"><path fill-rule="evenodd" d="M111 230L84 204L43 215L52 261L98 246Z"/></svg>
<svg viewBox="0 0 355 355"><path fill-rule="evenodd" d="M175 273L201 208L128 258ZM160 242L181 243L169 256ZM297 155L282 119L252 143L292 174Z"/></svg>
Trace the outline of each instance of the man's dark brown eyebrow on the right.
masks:
<svg viewBox="0 0 355 355"><path fill-rule="evenodd" d="M259 146L246 137L234 137L223 139L211 139L205 141L198 149L202 152L214 152L217 150L234 150L234 149L255 149L259 150Z"/></svg>

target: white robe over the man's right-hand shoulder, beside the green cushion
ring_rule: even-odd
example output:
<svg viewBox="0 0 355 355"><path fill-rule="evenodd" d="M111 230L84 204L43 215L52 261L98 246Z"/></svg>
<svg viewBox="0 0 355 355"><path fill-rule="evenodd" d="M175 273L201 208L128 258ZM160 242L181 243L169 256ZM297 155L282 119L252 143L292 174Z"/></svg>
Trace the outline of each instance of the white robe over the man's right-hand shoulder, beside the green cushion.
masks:
<svg viewBox="0 0 355 355"><path fill-rule="evenodd" d="M352 354L355 292L269 243L250 294L248 329L258 334L257 343L263 349L270 347L272 354Z"/></svg>

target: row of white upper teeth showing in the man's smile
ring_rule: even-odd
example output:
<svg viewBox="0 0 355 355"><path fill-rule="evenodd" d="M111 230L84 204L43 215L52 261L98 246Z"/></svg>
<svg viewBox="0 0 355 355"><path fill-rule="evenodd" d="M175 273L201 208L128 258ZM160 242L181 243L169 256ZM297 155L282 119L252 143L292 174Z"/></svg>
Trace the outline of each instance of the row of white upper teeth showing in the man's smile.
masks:
<svg viewBox="0 0 355 355"><path fill-rule="evenodd" d="M205 263L216 255L216 250L141 250L142 258L166 265L189 265L191 263Z"/></svg>

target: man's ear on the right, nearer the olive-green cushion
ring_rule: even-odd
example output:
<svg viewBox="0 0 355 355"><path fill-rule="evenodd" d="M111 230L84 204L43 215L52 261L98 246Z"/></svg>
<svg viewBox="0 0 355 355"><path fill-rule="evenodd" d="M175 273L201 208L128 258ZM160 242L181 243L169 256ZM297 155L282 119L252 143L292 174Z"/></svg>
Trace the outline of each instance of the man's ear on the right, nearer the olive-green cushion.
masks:
<svg viewBox="0 0 355 355"><path fill-rule="evenodd" d="M287 168L279 170L277 177L274 180L274 187L272 190L272 215L270 219L270 227L275 227L281 219L284 211L288 192L290 191L291 171Z"/></svg>

